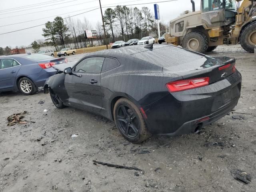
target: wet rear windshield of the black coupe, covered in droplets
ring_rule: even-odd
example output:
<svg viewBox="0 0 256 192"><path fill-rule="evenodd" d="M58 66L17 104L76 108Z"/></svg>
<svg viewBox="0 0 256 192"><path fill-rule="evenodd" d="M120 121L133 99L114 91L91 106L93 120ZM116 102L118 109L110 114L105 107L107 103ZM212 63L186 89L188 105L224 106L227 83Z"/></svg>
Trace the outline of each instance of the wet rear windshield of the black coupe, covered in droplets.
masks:
<svg viewBox="0 0 256 192"><path fill-rule="evenodd" d="M202 55L195 54L193 52L171 45L167 45L161 48L153 48L153 51L148 50L139 52L133 54L132 56L156 64L163 68L178 66L180 64L188 63L204 57Z"/></svg>

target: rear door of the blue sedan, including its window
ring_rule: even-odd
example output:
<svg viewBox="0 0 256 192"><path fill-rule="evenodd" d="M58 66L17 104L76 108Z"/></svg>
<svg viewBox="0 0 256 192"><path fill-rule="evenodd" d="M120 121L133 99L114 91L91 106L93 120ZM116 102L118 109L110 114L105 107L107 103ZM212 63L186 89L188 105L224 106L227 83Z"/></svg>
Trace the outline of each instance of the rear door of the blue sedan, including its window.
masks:
<svg viewBox="0 0 256 192"><path fill-rule="evenodd" d="M12 89L21 64L12 58L0 59L0 90Z"/></svg>

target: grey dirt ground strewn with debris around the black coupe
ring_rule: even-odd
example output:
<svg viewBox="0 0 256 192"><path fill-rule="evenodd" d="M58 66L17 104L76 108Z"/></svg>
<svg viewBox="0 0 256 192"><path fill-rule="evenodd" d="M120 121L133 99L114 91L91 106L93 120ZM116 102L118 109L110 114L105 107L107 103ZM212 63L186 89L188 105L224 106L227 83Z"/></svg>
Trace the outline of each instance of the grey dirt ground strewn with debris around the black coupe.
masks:
<svg viewBox="0 0 256 192"><path fill-rule="evenodd" d="M219 46L210 55L237 59L242 92L234 111L199 134L131 144L113 122L70 107L59 110L49 94L0 93L0 191L255 192L256 58L240 45ZM24 120L34 123L6 126L8 116L23 111ZM235 180L233 169L250 174L251 182Z"/></svg>

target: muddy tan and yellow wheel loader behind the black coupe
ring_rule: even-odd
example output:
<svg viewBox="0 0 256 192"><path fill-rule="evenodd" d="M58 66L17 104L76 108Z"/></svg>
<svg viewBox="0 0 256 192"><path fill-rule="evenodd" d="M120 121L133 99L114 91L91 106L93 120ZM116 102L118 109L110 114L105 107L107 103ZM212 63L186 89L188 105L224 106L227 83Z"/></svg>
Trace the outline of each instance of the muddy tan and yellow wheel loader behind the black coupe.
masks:
<svg viewBox="0 0 256 192"><path fill-rule="evenodd" d="M167 43L196 52L209 52L222 44L238 44L248 52L256 46L256 0L201 0L201 10L171 20Z"/></svg>

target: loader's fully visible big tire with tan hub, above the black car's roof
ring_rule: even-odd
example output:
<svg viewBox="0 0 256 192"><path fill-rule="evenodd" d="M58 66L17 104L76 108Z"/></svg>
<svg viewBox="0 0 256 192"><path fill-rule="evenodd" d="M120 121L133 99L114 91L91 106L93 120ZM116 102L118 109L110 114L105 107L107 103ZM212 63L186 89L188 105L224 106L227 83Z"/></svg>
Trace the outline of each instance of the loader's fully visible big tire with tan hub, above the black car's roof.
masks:
<svg viewBox="0 0 256 192"><path fill-rule="evenodd" d="M200 31L191 32L182 40L182 47L191 51L204 53L208 49L208 38Z"/></svg>

